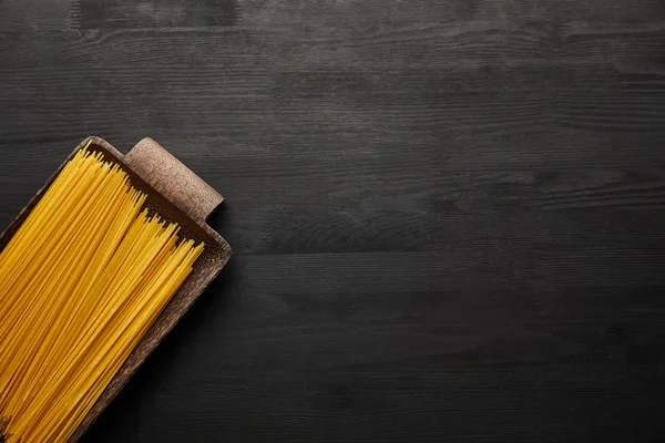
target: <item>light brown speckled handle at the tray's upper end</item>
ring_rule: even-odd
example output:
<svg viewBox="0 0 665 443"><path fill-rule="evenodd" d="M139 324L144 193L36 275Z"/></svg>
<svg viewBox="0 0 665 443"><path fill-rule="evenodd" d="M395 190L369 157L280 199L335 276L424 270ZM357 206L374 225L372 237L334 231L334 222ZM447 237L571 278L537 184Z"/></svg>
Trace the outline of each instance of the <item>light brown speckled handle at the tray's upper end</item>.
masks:
<svg viewBox="0 0 665 443"><path fill-rule="evenodd" d="M143 138L124 163L194 222L204 225L224 197L152 138Z"/></svg>

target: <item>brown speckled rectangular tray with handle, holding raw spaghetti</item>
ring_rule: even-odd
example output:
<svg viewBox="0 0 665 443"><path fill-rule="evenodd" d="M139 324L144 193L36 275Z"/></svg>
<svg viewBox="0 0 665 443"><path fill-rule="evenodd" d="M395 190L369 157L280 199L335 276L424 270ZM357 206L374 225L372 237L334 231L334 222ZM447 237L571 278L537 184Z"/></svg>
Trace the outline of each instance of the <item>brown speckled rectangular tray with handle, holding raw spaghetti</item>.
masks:
<svg viewBox="0 0 665 443"><path fill-rule="evenodd" d="M222 195L151 138L142 140L127 155L123 156L109 143L94 136L88 137L74 150L13 223L0 235L0 250L4 249L64 165L89 142L89 150L101 152L105 161L120 165L130 175L132 186L147 195L145 206L151 212L160 214L167 222L177 223L181 226L182 236L203 241L205 250L194 264L194 270L190 277L166 305L74 432L72 435L74 441L83 435L111 403L147 356L219 274L232 255L226 240L206 224L209 214L224 200Z"/></svg>

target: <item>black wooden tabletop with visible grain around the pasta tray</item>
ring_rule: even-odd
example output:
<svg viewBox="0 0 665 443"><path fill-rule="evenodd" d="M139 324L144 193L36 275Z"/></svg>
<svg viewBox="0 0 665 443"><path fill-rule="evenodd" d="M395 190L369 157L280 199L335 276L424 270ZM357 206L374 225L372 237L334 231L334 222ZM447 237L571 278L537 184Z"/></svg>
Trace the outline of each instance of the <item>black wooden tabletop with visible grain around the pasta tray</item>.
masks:
<svg viewBox="0 0 665 443"><path fill-rule="evenodd" d="M659 0L0 0L0 223L86 135L236 255L88 442L665 424Z"/></svg>

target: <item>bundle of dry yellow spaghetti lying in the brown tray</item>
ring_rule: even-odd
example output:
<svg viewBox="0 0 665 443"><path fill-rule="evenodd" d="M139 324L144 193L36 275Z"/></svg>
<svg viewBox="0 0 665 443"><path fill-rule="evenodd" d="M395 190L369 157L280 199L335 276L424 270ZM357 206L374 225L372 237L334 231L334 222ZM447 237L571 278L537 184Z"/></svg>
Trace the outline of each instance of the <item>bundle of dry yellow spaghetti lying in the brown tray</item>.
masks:
<svg viewBox="0 0 665 443"><path fill-rule="evenodd" d="M0 253L0 441L66 441L203 250L82 150Z"/></svg>

